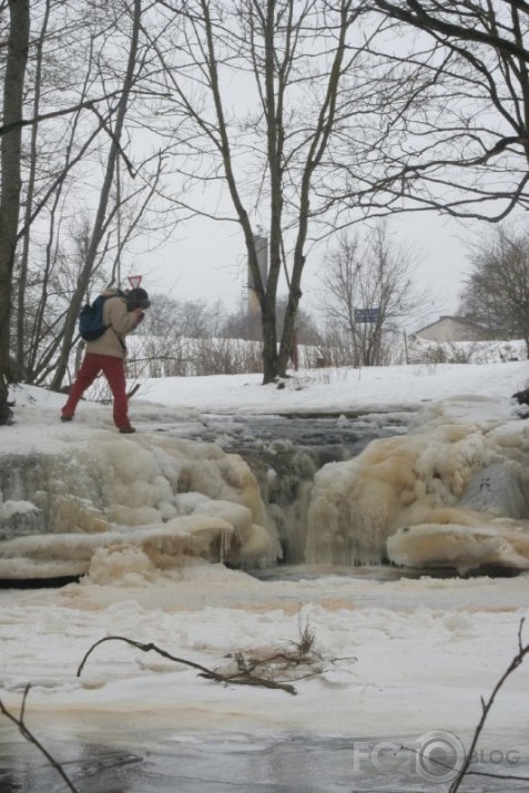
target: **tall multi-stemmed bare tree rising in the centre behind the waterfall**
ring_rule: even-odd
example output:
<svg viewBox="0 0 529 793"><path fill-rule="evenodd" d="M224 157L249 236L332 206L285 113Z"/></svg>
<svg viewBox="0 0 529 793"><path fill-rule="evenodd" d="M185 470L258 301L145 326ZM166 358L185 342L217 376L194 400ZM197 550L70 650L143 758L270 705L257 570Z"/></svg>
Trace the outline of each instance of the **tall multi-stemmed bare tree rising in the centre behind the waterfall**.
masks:
<svg viewBox="0 0 529 793"><path fill-rule="evenodd" d="M324 207L314 191L326 152L345 123L340 91L358 47L350 31L364 12L353 0L187 0L159 2L171 19L172 47L157 48L166 68L179 134L181 173L190 183L227 187L242 230L261 309L264 382L284 375L302 296L311 222ZM241 91L242 112L231 96ZM185 135L184 135L185 133ZM203 197L179 199L190 213L226 220ZM202 205L201 205L202 202ZM260 268L256 230L267 228L268 270ZM279 336L276 304L285 277L288 299Z"/></svg>

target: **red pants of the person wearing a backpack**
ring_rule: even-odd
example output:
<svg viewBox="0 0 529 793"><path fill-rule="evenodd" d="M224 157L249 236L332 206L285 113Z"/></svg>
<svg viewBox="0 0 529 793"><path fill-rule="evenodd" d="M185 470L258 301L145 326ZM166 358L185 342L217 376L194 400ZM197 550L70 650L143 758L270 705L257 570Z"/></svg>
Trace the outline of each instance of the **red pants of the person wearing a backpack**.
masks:
<svg viewBox="0 0 529 793"><path fill-rule="evenodd" d="M125 369L122 358L112 355L96 355L87 353L79 369L75 383L70 389L68 401L62 408L63 416L73 416L78 401L92 385L99 373L102 372L109 382L112 396L114 397L114 424L116 427L128 427L128 399L125 386Z"/></svg>

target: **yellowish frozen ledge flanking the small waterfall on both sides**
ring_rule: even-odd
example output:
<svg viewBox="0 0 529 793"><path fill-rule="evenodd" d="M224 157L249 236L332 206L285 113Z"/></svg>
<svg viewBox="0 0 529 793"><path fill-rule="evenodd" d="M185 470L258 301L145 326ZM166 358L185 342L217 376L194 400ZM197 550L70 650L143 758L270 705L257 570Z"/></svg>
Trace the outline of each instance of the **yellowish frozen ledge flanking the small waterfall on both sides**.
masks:
<svg viewBox="0 0 529 793"><path fill-rule="evenodd" d="M103 430L60 441L0 455L1 578L104 579L125 559L145 580L189 558L264 566L278 537L295 562L528 568L529 438L503 403L433 403L407 435L324 465L314 485L316 458L274 441L268 457L254 450L261 492L214 444Z"/></svg>

